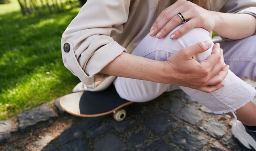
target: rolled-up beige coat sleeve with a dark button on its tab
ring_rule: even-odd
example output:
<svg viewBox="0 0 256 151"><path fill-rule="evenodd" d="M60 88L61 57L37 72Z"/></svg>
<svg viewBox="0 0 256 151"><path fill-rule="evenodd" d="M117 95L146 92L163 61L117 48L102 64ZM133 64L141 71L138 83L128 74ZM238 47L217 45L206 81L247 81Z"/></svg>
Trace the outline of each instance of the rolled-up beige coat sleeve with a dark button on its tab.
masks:
<svg viewBox="0 0 256 151"><path fill-rule="evenodd" d="M130 0L87 0L61 38L63 63L86 85L105 79L99 73L126 49L111 37L123 32Z"/></svg>

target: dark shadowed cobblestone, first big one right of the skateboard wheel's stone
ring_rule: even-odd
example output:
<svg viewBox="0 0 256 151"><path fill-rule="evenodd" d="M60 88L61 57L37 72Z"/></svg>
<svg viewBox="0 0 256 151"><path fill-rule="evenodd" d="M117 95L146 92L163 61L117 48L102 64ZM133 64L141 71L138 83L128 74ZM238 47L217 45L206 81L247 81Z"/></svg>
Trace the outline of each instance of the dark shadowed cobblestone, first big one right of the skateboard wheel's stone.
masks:
<svg viewBox="0 0 256 151"><path fill-rule="evenodd" d="M148 118L144 125L159 136L163 136L177 126L176 120L167 114L159 114Z"/></svg>

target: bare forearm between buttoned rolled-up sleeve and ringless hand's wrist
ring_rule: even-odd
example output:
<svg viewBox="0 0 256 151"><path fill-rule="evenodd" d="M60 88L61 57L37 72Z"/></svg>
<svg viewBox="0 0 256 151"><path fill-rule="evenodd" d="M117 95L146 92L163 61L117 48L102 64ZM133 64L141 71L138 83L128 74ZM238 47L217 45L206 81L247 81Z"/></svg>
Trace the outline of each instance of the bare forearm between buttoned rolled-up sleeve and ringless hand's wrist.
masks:
<svg viewBox="0 0 256 151"><path fill-rule="evenodd" d="M163 62L124 52L103 68L100 73L163 83L161 78Z"/></svg>

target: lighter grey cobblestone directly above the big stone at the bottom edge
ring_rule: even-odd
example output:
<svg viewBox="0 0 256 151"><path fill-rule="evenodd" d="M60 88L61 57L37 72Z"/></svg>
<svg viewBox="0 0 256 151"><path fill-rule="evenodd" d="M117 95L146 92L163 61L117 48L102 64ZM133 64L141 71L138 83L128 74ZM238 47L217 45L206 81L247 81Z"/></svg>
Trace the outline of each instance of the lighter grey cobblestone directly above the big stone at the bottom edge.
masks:
<svg viewBox="0 0 256 151"><path fill-rule="evenodd" d="M178 111L175 114L178 118L191 123L191 124L197 124L200 120L203 119L202 112L196 110L192 107L185 107L182 110Z"/></svg>

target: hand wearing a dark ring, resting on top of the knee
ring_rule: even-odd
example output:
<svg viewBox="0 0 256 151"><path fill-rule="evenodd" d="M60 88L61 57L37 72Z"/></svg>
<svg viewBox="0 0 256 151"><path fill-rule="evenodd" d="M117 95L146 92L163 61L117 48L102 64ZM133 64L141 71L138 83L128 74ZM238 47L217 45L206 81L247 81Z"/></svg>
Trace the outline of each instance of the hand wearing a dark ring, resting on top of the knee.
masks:
<svg viewBox="0 0 256 151"><path fill-rule="evenodd" d="M184 16L186 22L170 35L170 39L177 39L195 27L204 28L209 32L215 27L215 12L187 0L178 0L160 13L150 29L150 36L156 35L160 39L180 25L182 19L177 15L178 12Z"/></svg>

